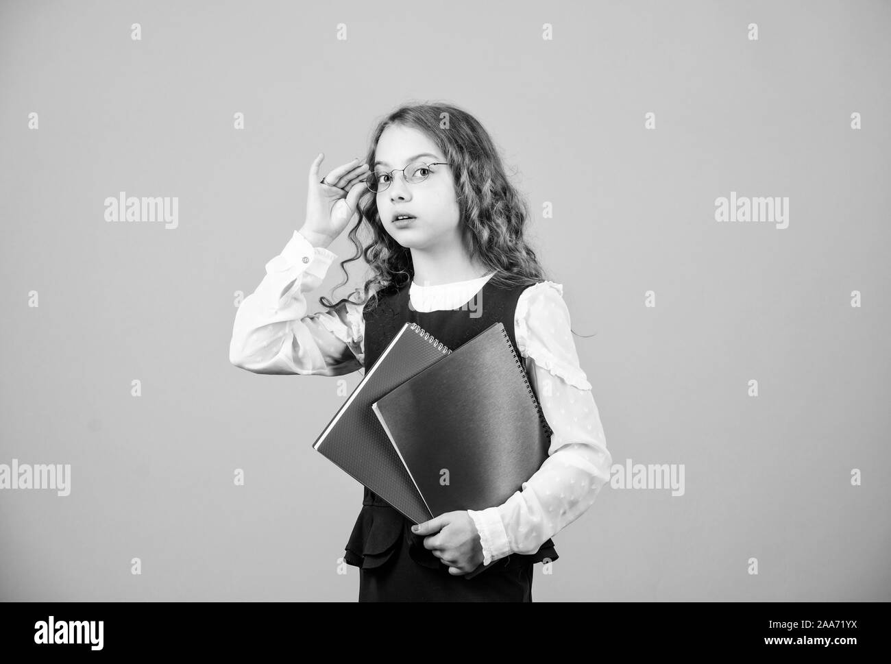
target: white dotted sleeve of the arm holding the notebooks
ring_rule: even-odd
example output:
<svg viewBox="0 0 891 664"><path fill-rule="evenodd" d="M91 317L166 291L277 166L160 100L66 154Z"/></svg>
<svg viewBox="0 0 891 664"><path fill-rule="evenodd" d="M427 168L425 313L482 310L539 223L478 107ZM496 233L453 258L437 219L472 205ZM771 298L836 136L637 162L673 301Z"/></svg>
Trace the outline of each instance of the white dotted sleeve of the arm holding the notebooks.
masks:
<svg viewBox="0 0 891 664"><path fill-rule="evenodd" d="M576 521L609 481L606 445L592 385L578 362L562 285L537 283L522 292L514 334L553 435L548 458L504 504L469 510L483 562L535 553Z"/></svg>

